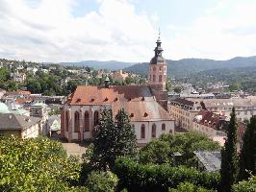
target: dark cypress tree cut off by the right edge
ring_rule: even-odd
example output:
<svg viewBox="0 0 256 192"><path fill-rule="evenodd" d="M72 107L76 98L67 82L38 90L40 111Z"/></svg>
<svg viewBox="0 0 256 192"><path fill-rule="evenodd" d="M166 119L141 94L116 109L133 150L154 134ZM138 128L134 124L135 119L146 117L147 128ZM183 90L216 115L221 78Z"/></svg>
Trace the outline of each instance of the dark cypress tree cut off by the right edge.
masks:
<svg viewBox="0 0 256 192"><path fill-rule="evenodd" d="M240 155L238 180L247 180L250 174L256 175L256 116L250 118L243 134L243 147Z"/></svg>

